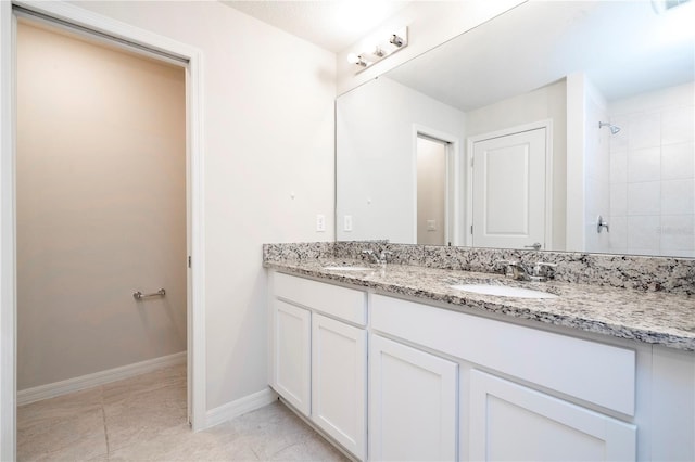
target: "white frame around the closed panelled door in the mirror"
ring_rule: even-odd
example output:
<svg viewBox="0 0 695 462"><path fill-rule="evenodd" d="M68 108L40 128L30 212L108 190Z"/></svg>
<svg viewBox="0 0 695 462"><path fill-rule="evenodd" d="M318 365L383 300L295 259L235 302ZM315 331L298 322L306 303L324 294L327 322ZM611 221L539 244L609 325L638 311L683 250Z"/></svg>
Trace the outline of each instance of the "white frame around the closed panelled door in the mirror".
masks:
<svg viewBox="0 0 695 462"><path fill-rule="evenodd" d="M545 251L553 248L553 119L546 118L529 124L517 125L503 128L501 130L480 133L466 138L466 246L472 247L473 234L473 146L480 141L492 140L494 138L508 137L509 134L522 133L545 129Z"/></svg>

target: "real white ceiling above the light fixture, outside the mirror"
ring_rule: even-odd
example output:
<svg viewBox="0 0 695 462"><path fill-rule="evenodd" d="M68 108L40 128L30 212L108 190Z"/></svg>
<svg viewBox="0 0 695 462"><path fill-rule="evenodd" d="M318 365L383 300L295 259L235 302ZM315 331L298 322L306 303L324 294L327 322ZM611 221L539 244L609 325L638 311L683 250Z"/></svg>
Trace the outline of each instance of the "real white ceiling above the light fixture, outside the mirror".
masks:
<svg viewBox="0 0 695 462"><path fill-rule="evenodd" d="M400 0L222 2L333 53L346 50L412 3Z"/></svg>

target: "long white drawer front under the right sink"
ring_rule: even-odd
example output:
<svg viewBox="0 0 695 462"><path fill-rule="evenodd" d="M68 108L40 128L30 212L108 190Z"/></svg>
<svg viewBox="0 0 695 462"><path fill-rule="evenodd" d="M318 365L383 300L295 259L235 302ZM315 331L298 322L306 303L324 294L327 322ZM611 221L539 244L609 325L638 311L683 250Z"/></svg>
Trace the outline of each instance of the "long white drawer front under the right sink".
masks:
<svg viewBox="0 0 695 462"><path fill-rule="evenodd" d="M381 295L370 316L376 331L634 415L631 349Z"/></svg>

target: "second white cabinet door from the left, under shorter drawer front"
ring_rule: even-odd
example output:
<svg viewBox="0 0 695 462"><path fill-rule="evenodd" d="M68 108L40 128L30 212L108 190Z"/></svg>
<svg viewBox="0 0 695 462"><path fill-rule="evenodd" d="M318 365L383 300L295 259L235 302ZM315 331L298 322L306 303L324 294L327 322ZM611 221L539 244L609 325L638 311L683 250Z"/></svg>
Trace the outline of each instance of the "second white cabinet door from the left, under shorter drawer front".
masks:
<svg viewBox="0 0 695 462"><path fill-rule="evenodd" d="M312 317L312 420L345 449L366 457L367 333Z"/></svg>

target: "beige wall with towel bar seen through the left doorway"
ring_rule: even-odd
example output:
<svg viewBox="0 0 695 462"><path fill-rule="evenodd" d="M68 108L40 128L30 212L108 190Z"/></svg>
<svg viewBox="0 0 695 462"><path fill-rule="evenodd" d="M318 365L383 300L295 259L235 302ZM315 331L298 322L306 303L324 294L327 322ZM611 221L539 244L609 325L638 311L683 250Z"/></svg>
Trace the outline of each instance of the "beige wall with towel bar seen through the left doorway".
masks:
<svg viewBox="0 0 695 462"><path fill-rule="evenodd" d="M185 94L182 67L20 24L17 389L186 350Z"/></svg>

